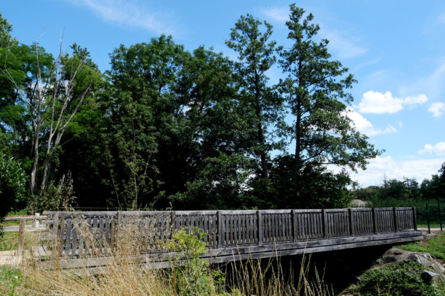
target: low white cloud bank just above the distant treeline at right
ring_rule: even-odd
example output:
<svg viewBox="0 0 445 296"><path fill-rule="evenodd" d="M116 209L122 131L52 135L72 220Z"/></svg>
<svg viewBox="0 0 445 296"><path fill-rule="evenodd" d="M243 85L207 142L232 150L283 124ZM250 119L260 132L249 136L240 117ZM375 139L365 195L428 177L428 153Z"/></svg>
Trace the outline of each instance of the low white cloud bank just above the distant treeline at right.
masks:
<svg viewBox="0 0 445 296"><path fill-rule="evenodd" d="M377 156L369 162L366 170L350 172L350 175L363 187L381 185L385 177L399 180L415 178L421 183L423 179L430 179L432 174L438 174L437 170L444 161L445 158L394 161L391 156Z"/></svg>

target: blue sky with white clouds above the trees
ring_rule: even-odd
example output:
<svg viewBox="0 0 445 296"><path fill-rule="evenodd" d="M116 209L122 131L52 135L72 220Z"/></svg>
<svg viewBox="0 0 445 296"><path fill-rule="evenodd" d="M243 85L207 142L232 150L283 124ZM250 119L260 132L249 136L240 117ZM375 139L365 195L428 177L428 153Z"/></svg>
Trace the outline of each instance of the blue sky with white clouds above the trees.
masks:
<svg viewBox="0 0 445 296"><path fill-rule="evenodd" d="M161 33L193 50L225 46L238 17L250 13L273 24L273 38L286 44L291 1L0 0L0 13L20 42L39 40L56 54L73 42L87 47L104 71L120 44L149 42ZM315 16L334 59L358 83L349 116L385 153L354 179L361 186L388 179L437 174L445 162L445 1L298 1ZM280 70L270 71L270 81Z"/></svg>

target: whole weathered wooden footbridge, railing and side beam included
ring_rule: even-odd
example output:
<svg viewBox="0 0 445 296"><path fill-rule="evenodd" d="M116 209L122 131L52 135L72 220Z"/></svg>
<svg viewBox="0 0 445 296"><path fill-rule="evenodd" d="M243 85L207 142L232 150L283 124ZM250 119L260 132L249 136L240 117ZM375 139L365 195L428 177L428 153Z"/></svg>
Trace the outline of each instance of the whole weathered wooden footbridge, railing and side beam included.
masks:
<svg viewBox="0 0 445 296"><path fill-rule="evenodd" d="M62 268L87 264L100 268L92 242L102 250L113 249L120 238L144 246L141 259L155 268L168 266L168 252L159 241L177 229L207 233L211 263L325 252L373 245L411 242L422 238L416 227L415 208L335 208L259 211L114 211L45 212L50 236L40 256L64 258ZM88 235L89 233L89 235ZM91 240L91 238L93 238ZM107 253L107 254L108 254ZM61 256L61 257L60 257ZM88 258L86 261L85 258ZM49 266L50 261L47 263Z"/></svg>

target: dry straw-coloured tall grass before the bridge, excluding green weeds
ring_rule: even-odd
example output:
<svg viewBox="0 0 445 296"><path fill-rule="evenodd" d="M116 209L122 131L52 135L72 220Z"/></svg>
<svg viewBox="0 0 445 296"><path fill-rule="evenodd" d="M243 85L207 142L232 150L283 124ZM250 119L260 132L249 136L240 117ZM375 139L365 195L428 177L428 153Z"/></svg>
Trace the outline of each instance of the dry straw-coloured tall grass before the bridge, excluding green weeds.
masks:
<svg viewBox="0 0 445 296"><path fill-rule="evenodd" d="M11 270L0 268L1 295L177 295L177 283L172 279L175 269L154 270L149 265L140 263L140 254L147 252L147 238L140 236L140 221L127 221L120 225L125 231L118 236L115 246L111 248L104 242L97 241L97 236L88 230L88 225L82 222L78 226L90 247L92 256L102 257L113 255L116 260L106 261L104 272L98 275L88 272L83 266L76 270L62 270L58 264L53 269L40 270L35 258L24 258L17 268ZM25 248L38 245L38 239L26 242ZM58 252L56 262L63 256ZM298 281L293 286L293 272L285 276L277 258L271 258L267 264L249 260L238 265L232 265L229 274L231 286L213 281L210 268L204 270L202 276L209 279L210 286L202 294L207 295L330 295L323 279L316 278L310 282L307 278L309 258L303 256L300 269L296 276ZM275 261L275 262L274 262ZM182 268L193 268L185 266ZM287 274L287 273L286 273ZM196 295L192 291L182 291L181 294Z"/></svg>

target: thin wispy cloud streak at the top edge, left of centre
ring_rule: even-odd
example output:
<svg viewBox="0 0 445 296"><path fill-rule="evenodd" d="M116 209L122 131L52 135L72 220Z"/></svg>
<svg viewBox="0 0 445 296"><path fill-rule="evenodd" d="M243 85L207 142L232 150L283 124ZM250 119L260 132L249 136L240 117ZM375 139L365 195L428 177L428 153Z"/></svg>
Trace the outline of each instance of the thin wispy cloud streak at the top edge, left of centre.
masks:
<svg viewBox="0 0 445 296"><path fill-rule="evenodd" d="M154 33L173 33L168 25L166 15L154 12L145 6L145 2L137 0L70 0L90 8L106 22L120 25L135 26Z"/></svg>

